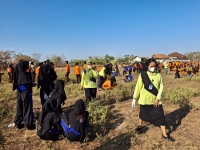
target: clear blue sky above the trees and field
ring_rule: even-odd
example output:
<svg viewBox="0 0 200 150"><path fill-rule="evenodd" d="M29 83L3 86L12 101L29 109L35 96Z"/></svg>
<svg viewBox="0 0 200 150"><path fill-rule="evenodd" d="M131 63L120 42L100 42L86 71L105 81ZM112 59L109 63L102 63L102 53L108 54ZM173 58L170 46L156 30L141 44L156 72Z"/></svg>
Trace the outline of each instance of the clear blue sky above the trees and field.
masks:
<svg viewBox="0 0 200 150"><path fill-rule="evenodd" d="M0 49L68 60L200 51L200 0L0 0Z"/></svg>

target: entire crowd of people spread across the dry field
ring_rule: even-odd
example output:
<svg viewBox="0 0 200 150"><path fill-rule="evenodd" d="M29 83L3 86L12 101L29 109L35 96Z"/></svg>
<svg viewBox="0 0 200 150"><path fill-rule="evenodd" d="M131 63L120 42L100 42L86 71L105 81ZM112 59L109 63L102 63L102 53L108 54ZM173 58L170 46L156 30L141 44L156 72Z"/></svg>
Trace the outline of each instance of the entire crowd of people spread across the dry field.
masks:
<svg viewBox="0 0 200 150"><path fill-rule="evenodd" d="M160 72L164 70L164 74L167 74L168 69L175 71L175 78L180 78L184 74L198 75L199 64L200 62L157 63L155 59L148 59L145 63L120 65L108 63L97 67L95 63L88 60L82 66L76 63L74 73L76 82L80 84L80 89L84 90L87 101L96 100L97 91L113 89L117 86L116 76L122 75L125 77L125 82L131 82L132 73L139 74L133 95L133 101L139 98L140 104L140 122L137 130L140 132L143 121L147 121L161 127L162 138L174 141L166 134L161 102L163 82ZM89 113L85 110L84 101L77 100L73 111L68 115L61 107L67 99L64 87L70 82L68 61L66 61L65 70L66 81L62 81L57 80L54 64L49 60L39 63L37 67L33 62L24 60L20 60L15 68L13 64L9 65L8 80L13 84L13 90L17 91L17 111L14 120L16 129L36 128L38 136L44 140L57 140L60 135L69 141L82 142L84 140L89 126ZM36 124L34 124L32 100L32 88L35 86L40 89L42 106Z"/></svg>

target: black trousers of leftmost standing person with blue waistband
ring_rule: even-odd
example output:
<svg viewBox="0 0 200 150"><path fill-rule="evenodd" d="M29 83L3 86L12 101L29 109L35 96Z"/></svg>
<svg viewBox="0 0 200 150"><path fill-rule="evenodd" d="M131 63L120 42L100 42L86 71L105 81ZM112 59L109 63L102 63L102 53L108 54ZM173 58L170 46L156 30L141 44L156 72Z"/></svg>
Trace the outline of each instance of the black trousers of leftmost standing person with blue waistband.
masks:
<svg viewBox="0 0 200 150"><path fill-rule="evenodd" d="M32 94L28 91L17 91L17 112L15 115L15 126L20 127L21 123L31 127L34 121Z"/></svg>

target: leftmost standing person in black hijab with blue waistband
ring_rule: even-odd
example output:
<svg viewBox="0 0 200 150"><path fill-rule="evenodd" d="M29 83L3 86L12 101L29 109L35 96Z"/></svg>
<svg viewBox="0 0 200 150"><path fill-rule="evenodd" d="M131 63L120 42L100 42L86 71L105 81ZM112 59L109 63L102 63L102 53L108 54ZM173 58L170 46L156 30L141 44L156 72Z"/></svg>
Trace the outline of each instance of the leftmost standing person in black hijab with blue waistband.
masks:
<svg viewBox="0 0 200 150"><path fill-rule="evenodd" d="M28 61L20 61L13 73L13 90L17 90L17 112L14 121L17 129L23 127L22 122L27 129L35 128L32 100L32 87L35 86L35 83L26 72L28 66Z"/></svg>

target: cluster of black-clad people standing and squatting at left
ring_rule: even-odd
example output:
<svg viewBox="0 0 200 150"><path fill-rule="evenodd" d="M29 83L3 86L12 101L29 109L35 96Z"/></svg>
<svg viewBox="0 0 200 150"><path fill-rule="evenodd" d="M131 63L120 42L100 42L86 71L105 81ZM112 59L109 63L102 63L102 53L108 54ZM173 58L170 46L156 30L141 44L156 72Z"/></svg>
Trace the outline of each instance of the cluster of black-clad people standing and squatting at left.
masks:
<svg viewBox="0 0 200 150"><path fill-rule="evenodd" d="M34 74L30 70L31 65L33 63L20 60L12 73L13 90L17 91L17 111L14 120L16 129L36 128L37 135L44 140L58 140L62 135L70 141L82 142L89 124L89 113L85 110L83 100L77 100L73 111L65 115L61 107L67 99L64 90L65 83L57 80L54 64L48 60L40 63ZM35 79L37 79L36 82ZM42 105L36 124L32 99L34 86L40 88Z"/></svg>

